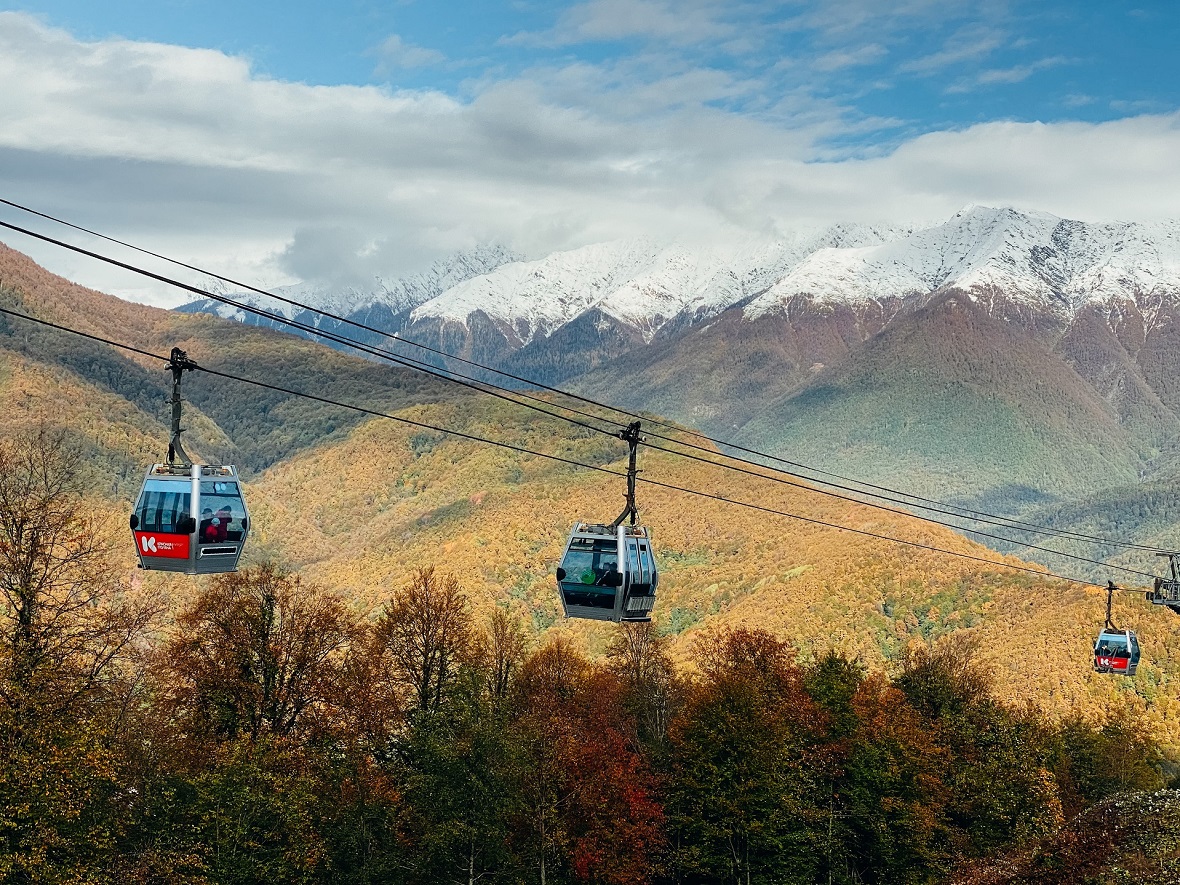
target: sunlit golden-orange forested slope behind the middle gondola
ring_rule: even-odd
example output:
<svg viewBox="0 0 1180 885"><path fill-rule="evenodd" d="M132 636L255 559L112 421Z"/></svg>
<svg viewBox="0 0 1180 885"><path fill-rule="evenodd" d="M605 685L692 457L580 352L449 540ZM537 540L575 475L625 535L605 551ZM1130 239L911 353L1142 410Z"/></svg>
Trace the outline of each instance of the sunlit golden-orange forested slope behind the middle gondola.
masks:
<svg viewBox="0 0 1180 885"><path fill-rule="evenodd" d="M621 441L503 404L404 414L624 468ZM940 526L642 452L641 513L654 527L662 566L655 620L676 636L680 654L701 629L756 624L789 637L804 655L837 647L881 667L912 642L966 629L1011 699L1057 714L1148 707L1180 746L1180 617L1152 609L1141 595L1117 599L1115 612L1143 637L1139 676L1099 677L1089 669L1104 608L1096 588L664 489L651 481L997 558ZM433 564L459 576L477 617L506 607L538 631L570 631L601 650L615 628L563 621L553 569L570 525L611 519L623 487L621 477L374 421L342 442L276 465L250 491L256 552L286 557L361 611L375 610L411 570Z"/></svg>

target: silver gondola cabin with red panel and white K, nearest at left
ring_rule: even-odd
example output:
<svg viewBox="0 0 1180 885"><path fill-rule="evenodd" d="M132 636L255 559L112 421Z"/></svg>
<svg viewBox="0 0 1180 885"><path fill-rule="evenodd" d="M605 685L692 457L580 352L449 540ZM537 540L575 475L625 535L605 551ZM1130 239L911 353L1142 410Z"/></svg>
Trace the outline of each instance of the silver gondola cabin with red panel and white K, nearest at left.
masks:
<svg viewBox="0 0 1180 885"><path fill-rule="evenodd" d="M184 575L237 569L249 513L237 470L156 464L131 513L139 568Z"/></svg>

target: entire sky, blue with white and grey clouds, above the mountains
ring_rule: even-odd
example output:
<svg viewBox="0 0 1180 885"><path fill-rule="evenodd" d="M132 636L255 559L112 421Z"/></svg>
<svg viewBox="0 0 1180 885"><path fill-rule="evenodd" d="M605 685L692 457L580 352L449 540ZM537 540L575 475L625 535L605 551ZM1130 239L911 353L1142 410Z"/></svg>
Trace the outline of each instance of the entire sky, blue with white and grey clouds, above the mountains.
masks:
<svg viewBox="0 0 1180 885"><path fill-rule="evenodd" d="M0 194L268 284L969 202L1160 217L1178 45L1159 0L0 0Z"/></svg>

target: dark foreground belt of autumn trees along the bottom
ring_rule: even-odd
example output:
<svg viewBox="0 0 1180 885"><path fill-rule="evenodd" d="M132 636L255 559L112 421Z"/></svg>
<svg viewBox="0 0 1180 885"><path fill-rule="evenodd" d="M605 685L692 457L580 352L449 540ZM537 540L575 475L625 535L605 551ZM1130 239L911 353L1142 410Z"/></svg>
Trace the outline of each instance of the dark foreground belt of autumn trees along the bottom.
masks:
<svg viewBox="0 0 1180 885"><path fill-rule="evenodd" d="M1136 722L771 632L531 647L422 563L375 612L273 565L178 612L119 582L77 455L0 444L8 883L1146 883L1180 792ZM1171 788L1169 788L1171 787Z"/></svg>

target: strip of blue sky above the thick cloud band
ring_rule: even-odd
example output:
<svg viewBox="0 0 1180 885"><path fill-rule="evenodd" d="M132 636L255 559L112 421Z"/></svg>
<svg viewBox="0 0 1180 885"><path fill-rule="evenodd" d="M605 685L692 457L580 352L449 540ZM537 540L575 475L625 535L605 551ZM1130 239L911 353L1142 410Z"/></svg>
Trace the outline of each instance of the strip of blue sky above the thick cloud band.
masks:
<svg viewBox="0 0 1180 885"><path fill-rule="evenodd" d="M645 11L644 11L645 7ZM632 20L618 15L630 8ZM745 80L701 98L773 119L784 94L837 103L867 150L996 119L1110 120L1176 107L1180 12L1148 2L0 2L83 40L219 50L256 74L470 96L576 63ZM678 26L678 33L676 31ZM643 70L647 67L648 70ZM778 112L785 113L784 109ZM876 126L879 126L876 127Z"/></svg>

